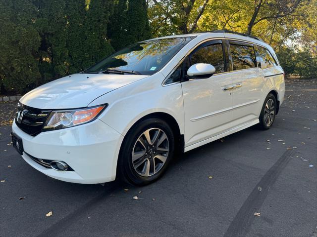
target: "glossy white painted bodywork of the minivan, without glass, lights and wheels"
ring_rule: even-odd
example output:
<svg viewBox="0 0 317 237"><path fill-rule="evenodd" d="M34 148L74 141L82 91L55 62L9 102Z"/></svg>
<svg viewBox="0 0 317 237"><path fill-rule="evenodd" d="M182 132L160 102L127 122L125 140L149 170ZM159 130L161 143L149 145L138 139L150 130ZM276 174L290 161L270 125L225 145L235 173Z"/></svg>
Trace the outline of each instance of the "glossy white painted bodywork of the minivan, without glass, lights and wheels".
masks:
<svg viewBox="0 0 317 237"><path fill-rule="evenodd" d="M180 61L206 40L234 39L272 48L263 41L227 33L197 33L159 72L152 76L74 74L42 85L20 102L38 109L71 109L108 104L98 119L75 127L41 132L33 137L15 122L22 138L22 157L53 178L75 183L104 183L115 179L120 147L129 129L143 117L163 113L174 118L189 151L259 122L266 95L284 98L283 70L252 68L225 72L207 79L164 84ZM182 36L170 36L182 37ZM276 75L271 77L271 75ZM241 85L241 86L239 86ZM223 87L233 86L232 90ZM74 171L45 168L36 158L65 161Z"/></svg>

